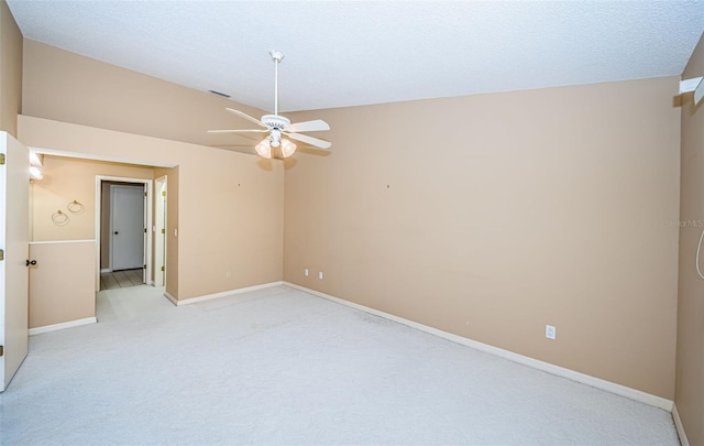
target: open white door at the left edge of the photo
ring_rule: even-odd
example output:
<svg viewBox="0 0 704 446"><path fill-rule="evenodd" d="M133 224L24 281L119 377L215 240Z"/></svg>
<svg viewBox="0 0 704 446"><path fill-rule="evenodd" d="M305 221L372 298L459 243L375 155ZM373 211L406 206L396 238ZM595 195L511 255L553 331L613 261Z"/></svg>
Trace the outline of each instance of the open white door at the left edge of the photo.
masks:
<svg viewBox="0 0 704 446"><path fill-rule="evenodd" d="M4 164L0 163L0 391L4 391L29 346L30 151L0 132L0 153L4 155Z"/></svg>

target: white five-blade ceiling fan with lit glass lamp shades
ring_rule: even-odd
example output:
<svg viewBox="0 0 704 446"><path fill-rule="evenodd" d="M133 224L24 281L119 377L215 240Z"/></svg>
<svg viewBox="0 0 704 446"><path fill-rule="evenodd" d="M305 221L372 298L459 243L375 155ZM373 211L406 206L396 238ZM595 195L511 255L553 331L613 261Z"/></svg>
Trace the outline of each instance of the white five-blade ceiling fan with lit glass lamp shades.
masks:
<svg viewBox="0 0 704 446"><path fill-rule="evenodd" d="M278 115L278 64L283 61L284 54L278 51L270 51L272 59L274 61L274 115L264 115L262 119L252 118L251 116L232 108L226 108L226 110L238 115L249 121L256 123L262 129L246 129L246 130L208 130L209 133L268 133L262 142L254 146L256 153L262 157L272 157L272 149L280 148L283 157L288 157L296 152L296 144L284 138L287 137L292 140L300 141L306 144L314 145L318 149L329 149L332 143L329 141L320 140L318 138L308 137L299 132L317 132L330 130L330 126L323 120L316 119L314 121L305 121L290 123L288 118Z"/></svg>

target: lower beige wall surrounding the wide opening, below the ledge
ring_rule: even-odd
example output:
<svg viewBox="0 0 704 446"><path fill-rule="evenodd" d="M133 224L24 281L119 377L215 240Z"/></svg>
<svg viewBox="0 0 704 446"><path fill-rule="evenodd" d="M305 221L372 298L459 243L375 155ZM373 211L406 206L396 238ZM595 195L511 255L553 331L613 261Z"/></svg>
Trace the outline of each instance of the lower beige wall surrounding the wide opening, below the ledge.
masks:
<svg viewBox="0 0 704 446"><path fill-rule="evenodd" d="M19 117L19 133L30 146L178 165L168 183L169 225L176 226L169 230L166 291L173 296L185 300L282 279L280 162L26 116Z"/></svg>

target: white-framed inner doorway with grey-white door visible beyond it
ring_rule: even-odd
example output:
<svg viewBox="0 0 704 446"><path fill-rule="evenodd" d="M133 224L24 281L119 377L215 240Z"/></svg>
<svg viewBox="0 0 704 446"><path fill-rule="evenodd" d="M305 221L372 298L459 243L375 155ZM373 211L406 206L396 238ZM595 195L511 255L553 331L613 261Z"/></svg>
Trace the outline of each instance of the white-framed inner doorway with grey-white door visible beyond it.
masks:
<svg viewBox="0 0 704 446"><path fill-rule="evenodd" d="M151 283L152 182L98 175L97 189L97 291Z"/></svg>

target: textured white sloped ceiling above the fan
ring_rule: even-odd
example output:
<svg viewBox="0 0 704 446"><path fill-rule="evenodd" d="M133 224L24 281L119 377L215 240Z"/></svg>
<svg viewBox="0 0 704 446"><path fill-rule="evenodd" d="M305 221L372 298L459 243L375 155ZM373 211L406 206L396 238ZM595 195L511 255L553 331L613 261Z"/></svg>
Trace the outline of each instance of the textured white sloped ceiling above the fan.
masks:
<svg viewBox="0 0 704 446"><path fill-rule="evenodd" d="M283 111L682 73L698 1L26 1L25 37Z"/></svg>

